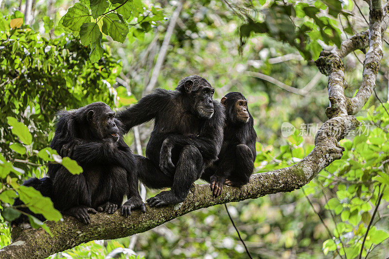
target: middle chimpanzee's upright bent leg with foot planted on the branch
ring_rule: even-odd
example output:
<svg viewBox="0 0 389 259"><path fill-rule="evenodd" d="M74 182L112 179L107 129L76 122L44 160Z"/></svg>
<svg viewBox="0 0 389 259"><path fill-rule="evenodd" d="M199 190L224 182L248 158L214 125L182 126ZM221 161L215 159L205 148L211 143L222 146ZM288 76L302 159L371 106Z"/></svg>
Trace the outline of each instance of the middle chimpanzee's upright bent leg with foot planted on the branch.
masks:
<svg viewBox="0 0 389 259"><path fill-rule="evenodd" d="M178 158L172 190L162 191L147 200L151 207L183 202L203 170L203 158L193 145L184 146Z"/></svg>

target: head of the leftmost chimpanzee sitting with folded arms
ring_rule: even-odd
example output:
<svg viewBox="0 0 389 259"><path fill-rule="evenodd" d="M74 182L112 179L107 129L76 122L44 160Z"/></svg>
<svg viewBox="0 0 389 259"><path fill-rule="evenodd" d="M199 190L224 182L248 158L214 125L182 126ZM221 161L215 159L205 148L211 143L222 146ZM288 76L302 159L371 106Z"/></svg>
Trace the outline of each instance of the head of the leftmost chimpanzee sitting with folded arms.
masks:
<svg viewBox="0 0 389 259"><path fill-rule="evenodd" d="M119 140L119 129L114 119L115 112L108 105L94 107L93 110L88 111L87 116L89 123L95 128L100 138Z"/></svg>

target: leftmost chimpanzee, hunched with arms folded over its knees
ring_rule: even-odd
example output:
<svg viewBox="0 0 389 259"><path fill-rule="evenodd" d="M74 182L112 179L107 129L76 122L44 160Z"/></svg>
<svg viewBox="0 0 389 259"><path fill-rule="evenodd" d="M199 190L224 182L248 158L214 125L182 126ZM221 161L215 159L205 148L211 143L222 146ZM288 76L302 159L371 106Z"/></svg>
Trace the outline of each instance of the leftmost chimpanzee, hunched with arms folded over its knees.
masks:
<svg viewBox="0 0 389 259"><path fill-rule="evenodd" d="M74 175L61 165L49 165L54 206L86 224L88 212L96 213L97 209L113 213L122 205L124 195L129 198L126 208L145 211L134 173L134 156L114 115L101 102L58 114L51 147L76 160L84 172Z"/></svg>

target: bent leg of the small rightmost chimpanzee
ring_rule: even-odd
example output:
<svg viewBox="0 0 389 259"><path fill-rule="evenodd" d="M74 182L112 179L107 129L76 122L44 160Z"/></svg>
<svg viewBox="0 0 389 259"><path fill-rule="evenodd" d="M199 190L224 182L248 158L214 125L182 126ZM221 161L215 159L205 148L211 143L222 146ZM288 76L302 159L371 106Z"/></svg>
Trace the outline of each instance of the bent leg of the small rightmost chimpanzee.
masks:
<svg viewBox="0 0 389 259"><path fill-rule="evenodd" d="M226 184L232 186L242 186L248 183L251 173L254 171L254 163L251 150L245 144L236 146L237 164L234 170L227 176Z"/></svg>

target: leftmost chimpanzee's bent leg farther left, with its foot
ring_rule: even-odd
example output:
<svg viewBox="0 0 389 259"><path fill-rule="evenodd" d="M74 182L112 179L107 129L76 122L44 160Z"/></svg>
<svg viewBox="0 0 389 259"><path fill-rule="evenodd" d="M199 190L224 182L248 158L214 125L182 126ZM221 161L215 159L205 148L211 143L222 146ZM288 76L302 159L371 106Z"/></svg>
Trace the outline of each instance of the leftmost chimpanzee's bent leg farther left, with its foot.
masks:
<svg viewBox="0 0 389 259"><path fill-rule="evenodd" d="M83 174L71 174L61 167L53 180L54 207L85 224L90 223L88 212L97 213L91 208L91 197Z"/></svg>

